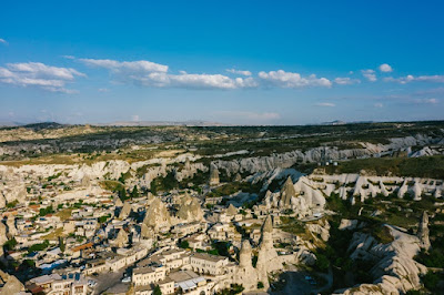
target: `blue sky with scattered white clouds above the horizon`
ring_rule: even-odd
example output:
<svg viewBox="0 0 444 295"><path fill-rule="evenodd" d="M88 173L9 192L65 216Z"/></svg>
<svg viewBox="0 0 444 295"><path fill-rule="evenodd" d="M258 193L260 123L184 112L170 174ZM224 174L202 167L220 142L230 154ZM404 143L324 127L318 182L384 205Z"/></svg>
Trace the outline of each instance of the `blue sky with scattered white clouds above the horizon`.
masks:
<svg viewBox="0 0 444 295"><path fill-rule="evenodd" d="M0 122L444 119L442 1L2 1Z"/></svg>

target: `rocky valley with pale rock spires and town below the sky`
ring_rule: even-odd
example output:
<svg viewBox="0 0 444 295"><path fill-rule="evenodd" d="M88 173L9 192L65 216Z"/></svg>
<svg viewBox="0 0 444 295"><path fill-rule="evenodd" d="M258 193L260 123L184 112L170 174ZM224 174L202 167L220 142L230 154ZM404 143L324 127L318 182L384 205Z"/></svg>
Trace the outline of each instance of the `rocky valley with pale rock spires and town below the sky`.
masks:
<svg viewBox="0 0 444 295"><path fill-rule="evenodd" d="M42 123L0 160L0 294L444 292L442 121Z"/></svg>

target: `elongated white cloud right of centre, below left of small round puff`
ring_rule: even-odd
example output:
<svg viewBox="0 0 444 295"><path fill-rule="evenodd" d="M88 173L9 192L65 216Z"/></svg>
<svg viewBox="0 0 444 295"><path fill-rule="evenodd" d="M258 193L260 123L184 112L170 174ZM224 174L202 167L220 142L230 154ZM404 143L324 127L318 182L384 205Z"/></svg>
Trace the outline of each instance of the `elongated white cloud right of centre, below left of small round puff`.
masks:
<svg viewBox="0 0 444 295"><path fill-rule="evenodd" d="M304 87L326 87L330 88L332 82L326 78L316 78L311 74L306 78L299 73L285 72L283 70L271 72L259 72L259 78L264 82L281 88L304 88Z"/></svg>

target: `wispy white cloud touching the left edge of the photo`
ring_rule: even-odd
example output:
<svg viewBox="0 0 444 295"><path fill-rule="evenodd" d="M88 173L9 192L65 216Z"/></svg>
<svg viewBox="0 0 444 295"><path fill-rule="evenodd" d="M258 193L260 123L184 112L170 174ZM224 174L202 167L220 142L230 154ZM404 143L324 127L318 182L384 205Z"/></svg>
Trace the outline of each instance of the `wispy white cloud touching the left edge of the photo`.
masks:
<svg viewBox="0 0 444 295"><path fill-rule="evenodd" d="M7 68L0 67L0 83L38 87L51 92L77 92L64 88L75 77L85 74L71 68L50 67L41 62L8 63Z"/></svg>

